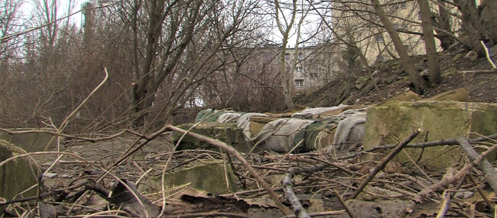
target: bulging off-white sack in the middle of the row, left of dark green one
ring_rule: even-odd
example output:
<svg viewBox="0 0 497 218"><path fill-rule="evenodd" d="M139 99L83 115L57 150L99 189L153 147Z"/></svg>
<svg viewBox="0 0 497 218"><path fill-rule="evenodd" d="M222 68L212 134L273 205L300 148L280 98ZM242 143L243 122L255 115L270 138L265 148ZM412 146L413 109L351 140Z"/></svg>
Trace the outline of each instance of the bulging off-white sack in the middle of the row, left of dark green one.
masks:
<svg viewBox="0 0 497 218"><path fill-rule="evenodd" d="M313 120L301 120L295 118L282 118L271 121L264 125L262 130L251 141L259 143L260 148L276 152L288 152L301 140L305 139L305 130ZM294 149L299 152L304 149L304 144Z"/></svg>

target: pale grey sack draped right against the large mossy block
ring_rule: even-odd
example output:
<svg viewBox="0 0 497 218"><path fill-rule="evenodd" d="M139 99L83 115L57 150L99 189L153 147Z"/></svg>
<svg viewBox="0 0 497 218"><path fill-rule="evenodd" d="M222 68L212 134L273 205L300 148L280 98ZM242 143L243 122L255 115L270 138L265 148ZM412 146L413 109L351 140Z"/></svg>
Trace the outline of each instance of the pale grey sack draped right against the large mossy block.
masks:
<svg viewBox="0 0 497 218"><path fill-rule="evenodd" d="M355 143L362 143L366 123L365 112L352 113L350 111L341 116L347 116L347 118L341 120L336 127L333 145L338 151L343 151Z"/></svg>

